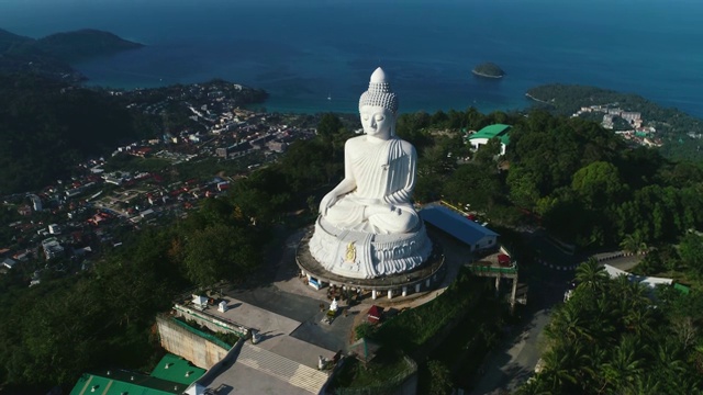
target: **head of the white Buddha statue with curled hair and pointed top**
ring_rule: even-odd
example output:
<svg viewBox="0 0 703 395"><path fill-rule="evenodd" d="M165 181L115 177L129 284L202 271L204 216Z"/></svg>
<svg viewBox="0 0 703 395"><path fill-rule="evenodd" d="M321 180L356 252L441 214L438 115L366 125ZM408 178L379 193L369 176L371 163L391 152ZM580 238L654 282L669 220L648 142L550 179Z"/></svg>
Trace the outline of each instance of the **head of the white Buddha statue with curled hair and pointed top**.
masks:
<svg viewBox="0 0 703 395"><path fill-rule="evenodd" d="M398 98L380 67L371 75L369 89L359 98L359 115L364 133L368 136L388 139L395 135Z"/></svg>

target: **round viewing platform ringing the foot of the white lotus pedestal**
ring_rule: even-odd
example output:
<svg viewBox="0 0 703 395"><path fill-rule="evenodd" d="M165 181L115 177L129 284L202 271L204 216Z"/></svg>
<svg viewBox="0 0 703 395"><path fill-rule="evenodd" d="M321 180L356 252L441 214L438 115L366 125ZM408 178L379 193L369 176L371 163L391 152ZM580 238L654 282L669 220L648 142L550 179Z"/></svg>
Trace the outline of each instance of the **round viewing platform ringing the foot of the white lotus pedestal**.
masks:
<svg viewBox="0 0 703 395"><path fill-rule="evenodd" d="M432 240L432 253L429 258L419 268L391 275L383 275L376 279L354 279L332 273L323 268L310 253L309 242L313 234L311 227L305 236L300 240L295 251L295 263L300 268L303 275L308 278L308 282L321 289L325 284L345 286L352 290L371 291L373 295L377 292L388 292L389 297L393 295L406 296L410 293L425 292L434 289L440 283L445 275L445 257L442 245L433 237L428 230Z"/></svg>

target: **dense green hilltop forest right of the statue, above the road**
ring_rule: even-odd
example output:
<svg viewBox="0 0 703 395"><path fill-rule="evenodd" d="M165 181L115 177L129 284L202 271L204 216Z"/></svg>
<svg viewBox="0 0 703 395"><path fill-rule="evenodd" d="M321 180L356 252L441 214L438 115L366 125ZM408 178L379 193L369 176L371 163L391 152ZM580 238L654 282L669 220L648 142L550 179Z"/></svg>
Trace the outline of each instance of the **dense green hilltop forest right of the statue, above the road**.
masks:
<svg viewBox="0 0 703 395"><path fill-rule="evenodd" d="M505 158L494 159L498 145L468 153L457 131L492 123L513 125ZM628 238L676 241L703 225L700 162L672 162L656 149L626 148L593 122L540 110L523 116L470 109L403 115L398 133L421 156L420 202L470 204L506 225L532 218L585 250L617 247ZM473 160L457 160L470 155Z"/></svg>

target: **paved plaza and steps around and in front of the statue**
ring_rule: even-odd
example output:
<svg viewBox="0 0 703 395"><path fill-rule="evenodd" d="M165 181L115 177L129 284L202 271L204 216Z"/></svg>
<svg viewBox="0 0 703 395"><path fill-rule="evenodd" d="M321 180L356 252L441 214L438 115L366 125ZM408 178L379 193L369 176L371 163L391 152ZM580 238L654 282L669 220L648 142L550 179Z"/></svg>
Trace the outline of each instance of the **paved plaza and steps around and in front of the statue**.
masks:
<svg viewBox="0 0 703 395"><path fill-rule="evenodd" d="M332 358L337 350L346 351L354 326L366 319L371 305L402 309L427 303L449 286L470 256L465 245L438 235L446 272L437 289L392 300L384 294L372 300L369 293L353 306L341 302L339 308L346 314L327 325L321 323L325 312L320 309L320 304L330 305L327 290L317 291L298 275L294 255L305 230L290 234L282 248L271 250L258 284L226 293L232 309L225 314L236 323L259 329L263 339L256 346L245 343L235 363L209 383L210 388L220 387L231 394L314 393L323 383L320 374L326 375L314 369L316 357Z"/></svg>

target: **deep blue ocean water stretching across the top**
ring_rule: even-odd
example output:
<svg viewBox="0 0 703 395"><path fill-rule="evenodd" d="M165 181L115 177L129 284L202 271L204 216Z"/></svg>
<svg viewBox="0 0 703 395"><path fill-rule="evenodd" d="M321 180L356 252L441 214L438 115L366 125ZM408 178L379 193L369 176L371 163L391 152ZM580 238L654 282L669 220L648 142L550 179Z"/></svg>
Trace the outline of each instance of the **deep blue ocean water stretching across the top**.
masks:
<svg viewBox="0 0 703 395"><path fill-rule="evenodd" d="M401 112L529 105L551 82L640 94L703 117L699 0L0 0L0 27L83 27L147 46L76 68L115 88L221 77L268 111L356 112L377 66ZM494 61L507 75L476 78Z"/></svg>

